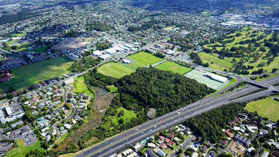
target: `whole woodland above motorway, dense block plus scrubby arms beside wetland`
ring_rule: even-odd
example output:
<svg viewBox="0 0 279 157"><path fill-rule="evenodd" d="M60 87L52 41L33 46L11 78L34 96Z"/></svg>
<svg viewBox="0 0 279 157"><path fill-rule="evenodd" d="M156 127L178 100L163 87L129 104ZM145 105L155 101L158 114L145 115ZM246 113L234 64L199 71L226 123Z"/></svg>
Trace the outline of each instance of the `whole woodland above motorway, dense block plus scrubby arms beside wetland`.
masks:
<svg viewBox="0 0 279 157"><path fill-rule="evenodd" d="M91 145L87 142L92 137L98 138L95 142L102 141L140 125L148 119L195 102L215 91L194 79L154 67L138 68L136 72L123 76L118 81L116 78L98 73L96 68L83 76L85 82L89 82L92 86L101 86L106 89L106 85L114 84L118 87L119 94L113 98L111 105L106 110L102 124L96 130L89 130L82 135L78 142L82 149ZM111 116L117 115L119 107L134 110L137 118L132 118L124 124L115 124L112 122ZM150 108L156 109L153 117L148 115ZM111 127L113 127L112 130Z"/></svg>

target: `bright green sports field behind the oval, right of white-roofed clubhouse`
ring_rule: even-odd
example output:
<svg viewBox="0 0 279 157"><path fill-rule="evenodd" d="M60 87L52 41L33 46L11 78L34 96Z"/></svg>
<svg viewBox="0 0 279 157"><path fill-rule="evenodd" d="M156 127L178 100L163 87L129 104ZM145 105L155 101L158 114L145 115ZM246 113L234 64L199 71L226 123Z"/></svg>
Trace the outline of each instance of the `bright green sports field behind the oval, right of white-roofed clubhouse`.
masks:
<svg viewBox="0 0 279 157"><path fill-rule="evenodd" d="M131 65L136 67L150 66L163 60L162 58L155 57L154 55L143 51L129 55L128 58L135 60Z"/></svg>

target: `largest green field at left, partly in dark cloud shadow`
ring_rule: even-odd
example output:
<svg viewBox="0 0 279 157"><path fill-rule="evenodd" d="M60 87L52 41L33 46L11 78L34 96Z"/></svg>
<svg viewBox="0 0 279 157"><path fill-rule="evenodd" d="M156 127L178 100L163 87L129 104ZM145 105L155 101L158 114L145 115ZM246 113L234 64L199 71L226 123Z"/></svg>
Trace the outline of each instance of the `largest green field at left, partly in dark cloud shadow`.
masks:
<svg viewBox="0 0 279 157"><path fill-rule="evenodd" d="M19 90L39 81L62 76L63 74L69 73L66 69L72 63L73 61L68 57L61 57L14 68L12 69L12 75L15 77L10 79L10 81L0 83L0 89L4 93L8 87L14 85Z"/></svg>

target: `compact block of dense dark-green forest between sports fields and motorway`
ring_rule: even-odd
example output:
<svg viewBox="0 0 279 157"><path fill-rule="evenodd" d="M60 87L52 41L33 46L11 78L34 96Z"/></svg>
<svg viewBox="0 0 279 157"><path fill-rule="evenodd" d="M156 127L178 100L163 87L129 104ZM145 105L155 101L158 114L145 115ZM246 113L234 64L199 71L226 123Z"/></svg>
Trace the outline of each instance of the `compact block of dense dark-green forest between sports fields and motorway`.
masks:
<svg viewBox="0 0 279 157"><path fill-rule="evenodd" d="M169 113L215 91L194 79L153 67L138 68L135 73L120 78L116 86L120 93L138 99L139 103L127 103L129 105L126 107L146 105L156 108L158 115Z"/></svg>

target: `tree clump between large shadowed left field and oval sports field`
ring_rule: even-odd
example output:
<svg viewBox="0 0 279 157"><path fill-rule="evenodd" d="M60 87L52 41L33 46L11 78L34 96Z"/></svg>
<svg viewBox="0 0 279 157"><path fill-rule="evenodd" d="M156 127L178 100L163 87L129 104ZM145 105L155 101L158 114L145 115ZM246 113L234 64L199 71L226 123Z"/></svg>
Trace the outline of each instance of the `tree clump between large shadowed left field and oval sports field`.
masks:
<svg viewBox="0 0 279 157"><path fill-rule="evenodd" d="M79 61L75 61L67 70L74 72L83 72L88 68L94 67L101 63L100 59L94 59L92 57L82 58Z"/></svg>

